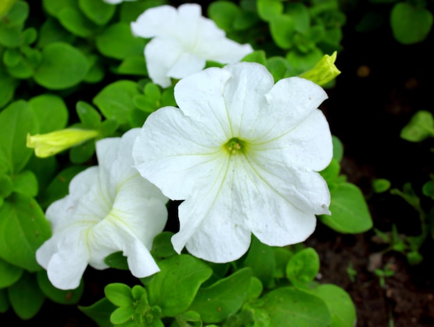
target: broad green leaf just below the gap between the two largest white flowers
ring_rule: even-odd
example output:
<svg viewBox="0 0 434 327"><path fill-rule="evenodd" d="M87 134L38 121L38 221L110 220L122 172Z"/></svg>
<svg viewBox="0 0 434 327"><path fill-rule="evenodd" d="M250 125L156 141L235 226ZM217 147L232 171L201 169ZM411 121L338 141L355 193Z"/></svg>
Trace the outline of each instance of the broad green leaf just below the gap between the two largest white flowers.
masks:
<svg viewBox="0 0 434 327"><path fill-rule="evenodd" d="M144 283L150 305L159 306L164 317L175 317L189 308L200 284L212 274L211 268L188 254L171 256L158 266L161 271Z"/></svg>

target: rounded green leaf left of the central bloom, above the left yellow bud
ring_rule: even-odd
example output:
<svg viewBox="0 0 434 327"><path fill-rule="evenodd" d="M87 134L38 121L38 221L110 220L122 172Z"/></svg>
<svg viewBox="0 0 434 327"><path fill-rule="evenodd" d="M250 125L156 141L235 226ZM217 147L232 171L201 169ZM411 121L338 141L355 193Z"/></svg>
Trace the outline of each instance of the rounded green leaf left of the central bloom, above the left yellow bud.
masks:
<svg viewBox="0 0 434 327"><path fill-rule="evenodd" d="M107 119L119 124L128 122L128 115L135 108L133 98L140 94L137 83L118 80L102 89L94 98L94 104Z"/></svg>

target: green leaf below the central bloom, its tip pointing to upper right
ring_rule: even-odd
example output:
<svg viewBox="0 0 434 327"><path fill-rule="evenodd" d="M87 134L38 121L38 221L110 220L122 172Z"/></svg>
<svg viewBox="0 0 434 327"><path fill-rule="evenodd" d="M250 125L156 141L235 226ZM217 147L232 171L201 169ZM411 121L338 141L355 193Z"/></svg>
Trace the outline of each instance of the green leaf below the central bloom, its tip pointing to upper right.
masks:
<svg viewBox="0 0 434 327"><path fill-rule="evenodd" d="M240 269L209 288L200 289L189 310L198 312L208 324L223 321L241 308L251 279L252 269Z"/></svg>

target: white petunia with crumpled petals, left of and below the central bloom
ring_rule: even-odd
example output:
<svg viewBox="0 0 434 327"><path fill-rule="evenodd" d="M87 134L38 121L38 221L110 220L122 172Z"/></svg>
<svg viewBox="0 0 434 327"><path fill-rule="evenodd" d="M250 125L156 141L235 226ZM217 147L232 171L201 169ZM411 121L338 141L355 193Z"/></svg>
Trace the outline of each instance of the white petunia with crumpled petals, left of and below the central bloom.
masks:
<svg viewBox="0 0 434 327"><path fill-rule="evenodd" d="M99 166L76 175L69 195L46 210L53 236L37 249L36 258L56 288L77 288L88 263L105 269L104 258L116 251L128 257L136 277L159 271L148 249L164 229L168 199L133 168L138 132L98 141Z"/></svg>

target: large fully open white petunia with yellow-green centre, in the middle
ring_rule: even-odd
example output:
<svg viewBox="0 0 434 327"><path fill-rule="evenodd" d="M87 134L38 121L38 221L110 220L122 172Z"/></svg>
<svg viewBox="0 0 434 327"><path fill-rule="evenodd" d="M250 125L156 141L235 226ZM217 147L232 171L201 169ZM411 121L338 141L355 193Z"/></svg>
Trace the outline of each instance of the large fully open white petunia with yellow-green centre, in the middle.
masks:
<svg viewBox="0 0 434 327"><path fill-rule="evenodd" d="M134 142L137 170L179 207L172 237L216 263L248 250L251 233L271 246L304 241L330 193L318 171L332 157L317 109L324 90L302 78L276 85L260 64L209 68L175 86L180 109L151 114Z"/></svg>

